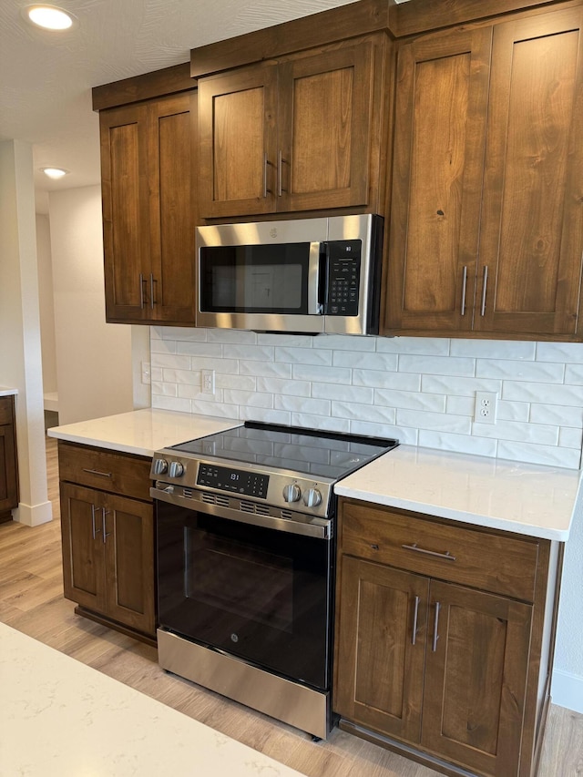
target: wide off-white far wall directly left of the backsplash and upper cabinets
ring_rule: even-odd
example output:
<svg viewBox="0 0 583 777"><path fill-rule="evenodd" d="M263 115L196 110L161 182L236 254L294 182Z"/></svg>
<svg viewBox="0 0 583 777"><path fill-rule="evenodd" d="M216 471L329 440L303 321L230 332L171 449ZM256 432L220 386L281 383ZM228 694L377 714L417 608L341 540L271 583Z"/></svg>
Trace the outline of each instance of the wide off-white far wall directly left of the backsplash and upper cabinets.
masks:
<svg viewBox="0 0 583 777"><path fill-rule="evenodd" d="M49 195L59 424L133 410L131 327L105 319L101 189Z"/></svg>

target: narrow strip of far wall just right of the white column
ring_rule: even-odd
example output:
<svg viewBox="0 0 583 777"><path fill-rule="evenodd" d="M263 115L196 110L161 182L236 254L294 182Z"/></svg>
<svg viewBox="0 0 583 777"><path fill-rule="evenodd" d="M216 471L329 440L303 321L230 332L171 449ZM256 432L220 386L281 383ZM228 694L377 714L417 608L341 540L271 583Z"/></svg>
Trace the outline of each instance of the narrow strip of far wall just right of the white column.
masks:
<svg viewBox="0 0 583 777"><path fill-rule="evenodd" d="M36 214L36 258L38 261L38 304L43 362L43 392L56 392L55 304L51 232L48 216Z"/></svg>

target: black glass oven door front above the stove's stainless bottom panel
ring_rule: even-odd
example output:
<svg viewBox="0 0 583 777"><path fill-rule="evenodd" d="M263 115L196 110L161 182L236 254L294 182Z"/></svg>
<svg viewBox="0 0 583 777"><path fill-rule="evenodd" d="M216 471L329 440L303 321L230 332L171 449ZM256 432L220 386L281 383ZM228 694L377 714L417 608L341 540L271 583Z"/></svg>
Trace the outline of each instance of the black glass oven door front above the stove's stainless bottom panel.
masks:
<svg viewBox="0 0 583 777"><path fill-rule="evenodd" d="M156 505L160 628L329 689L332 541Z"/></svg>

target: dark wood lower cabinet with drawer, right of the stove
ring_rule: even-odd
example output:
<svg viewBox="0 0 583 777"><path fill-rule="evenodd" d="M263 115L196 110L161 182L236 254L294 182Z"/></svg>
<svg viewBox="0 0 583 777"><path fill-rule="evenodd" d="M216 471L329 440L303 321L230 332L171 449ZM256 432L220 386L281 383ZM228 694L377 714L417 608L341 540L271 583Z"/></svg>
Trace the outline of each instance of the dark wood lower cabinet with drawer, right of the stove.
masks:
<svg viewBox="0 0 583 777"><path fill-rule="evenodd" d="M508 536L513 551L522 547L516 566L524 566L528 601L509 595L503 547L496 571L490 550L504 542L502 532L452 529L352 500L342 500L339 529L333 708L341 727L447 774L534 775L549 700L558 547ZM448 553L445 537L455 542L455 531ZM473 545L484 548L484 568L474 571ZM508 592L476 588L485 578Z"/></svg>

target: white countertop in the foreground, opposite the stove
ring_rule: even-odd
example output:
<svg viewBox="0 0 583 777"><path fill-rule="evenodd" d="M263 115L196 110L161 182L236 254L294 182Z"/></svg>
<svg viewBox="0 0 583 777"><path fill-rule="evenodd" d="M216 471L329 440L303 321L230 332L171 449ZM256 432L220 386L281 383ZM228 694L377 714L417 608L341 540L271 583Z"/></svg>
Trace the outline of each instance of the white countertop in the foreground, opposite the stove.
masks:
<svg viewBox="0 0 583 777"><path fill-rule="evenodd" d="M0 777L302 777L0 623Z"/></svg>

